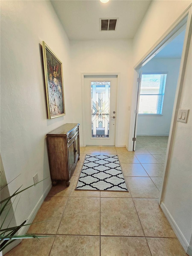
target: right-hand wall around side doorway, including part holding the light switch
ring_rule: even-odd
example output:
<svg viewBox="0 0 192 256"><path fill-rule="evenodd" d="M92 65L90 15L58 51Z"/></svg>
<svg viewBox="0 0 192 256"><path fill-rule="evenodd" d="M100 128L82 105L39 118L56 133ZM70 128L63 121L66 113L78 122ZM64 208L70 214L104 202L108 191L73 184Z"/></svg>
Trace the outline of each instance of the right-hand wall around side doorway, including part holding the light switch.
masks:
<svg viewBox="0 0 192 256"><path fill-rule="evenodd" d="M190 3L191 1L152 1L134 37L134 65L143 58ZM180 107L190 109L190 117L187 124L177 123L178 127L192 126L191 56L190 49L180 103ZM191 145L191 130L176 129L163 199L163 203L170 212L170 218L179 227L180 235L187 245L189 245L192 234ZM184 243L182 245L184 246Z"/></svg>

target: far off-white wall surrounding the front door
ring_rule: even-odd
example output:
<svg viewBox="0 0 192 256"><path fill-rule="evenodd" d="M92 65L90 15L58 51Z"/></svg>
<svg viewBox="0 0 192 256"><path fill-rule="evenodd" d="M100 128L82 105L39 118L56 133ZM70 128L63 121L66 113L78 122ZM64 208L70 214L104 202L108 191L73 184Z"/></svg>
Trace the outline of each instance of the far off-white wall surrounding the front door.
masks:
<svg viewBox="0 0 192 256"><path fill-rule="evenodd" d="M128 106L131 104L131 40L71 41L70 45L70 83L74 94L73 118L82 124L81 73L120 73L116 146L125 146L130 118ZM80 144L82 144L82 136L82 126L80 126Z"/></svg>

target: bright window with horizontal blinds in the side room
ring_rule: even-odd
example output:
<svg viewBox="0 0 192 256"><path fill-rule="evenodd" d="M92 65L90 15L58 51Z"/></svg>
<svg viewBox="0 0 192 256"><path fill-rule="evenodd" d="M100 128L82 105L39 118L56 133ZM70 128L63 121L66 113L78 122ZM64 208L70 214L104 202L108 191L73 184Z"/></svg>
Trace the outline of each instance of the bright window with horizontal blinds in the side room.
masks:
<svg viewBox="0 0 192 256"><path fill-rule="evenodd" d="M167 74L142 75L139 114L162 114L166 78Z"/></svg>

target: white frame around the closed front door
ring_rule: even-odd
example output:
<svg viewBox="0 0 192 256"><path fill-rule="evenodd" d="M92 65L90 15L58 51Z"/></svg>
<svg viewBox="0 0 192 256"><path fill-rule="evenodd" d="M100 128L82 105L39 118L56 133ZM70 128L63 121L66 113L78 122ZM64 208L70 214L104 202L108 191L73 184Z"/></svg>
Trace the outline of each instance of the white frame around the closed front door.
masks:
<svg viewBox="0 0 192 256"><path fill-rule="evenodd" d="M116 76L117 77L117 99L116 99L116 130L115 130L115 146L118 145L118 121L119 121L119 88L120 88L120 73L81 73L81 92L82 92L82 128L83 128L83 147L86 146L86 125L85 125L85 83L86 76L100 77L100 76Z"/></svg>

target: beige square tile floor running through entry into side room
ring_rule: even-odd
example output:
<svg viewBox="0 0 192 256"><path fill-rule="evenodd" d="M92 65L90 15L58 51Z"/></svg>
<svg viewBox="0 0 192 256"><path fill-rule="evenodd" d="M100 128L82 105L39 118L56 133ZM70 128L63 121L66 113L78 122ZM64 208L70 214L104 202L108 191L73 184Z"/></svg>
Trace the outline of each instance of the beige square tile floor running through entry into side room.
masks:
<svg viewBox="0 0 192 256"><path fill-rule="evenodd" d="M167 137L138 136L135 152L126 148L80 148L70 186L52 187L24 239L6 256L184 256L158 206ZM86 154L117 154L129 192L75 190Z"/></svg>

